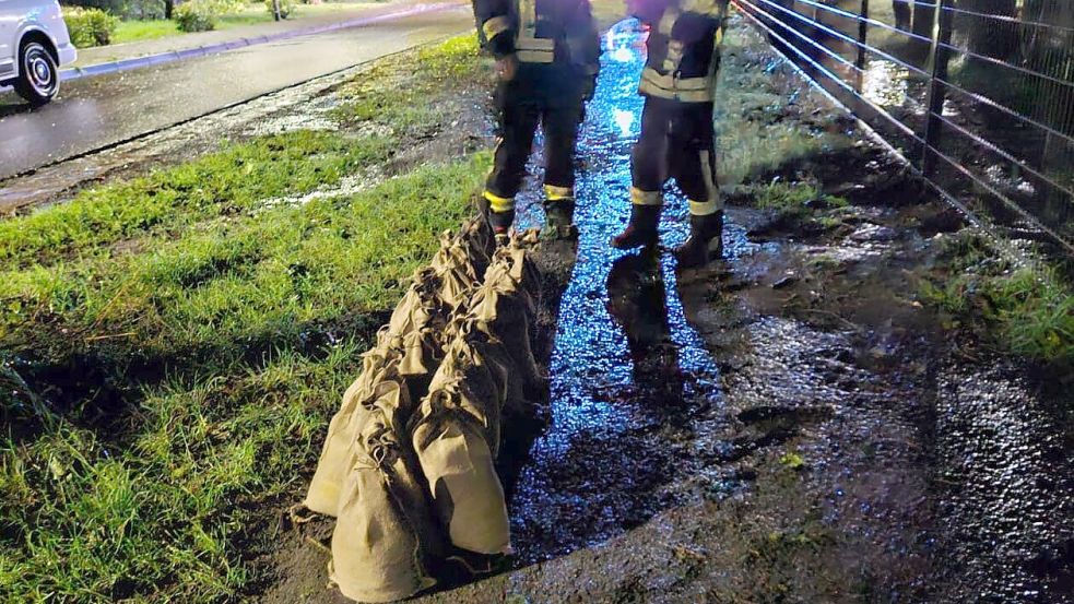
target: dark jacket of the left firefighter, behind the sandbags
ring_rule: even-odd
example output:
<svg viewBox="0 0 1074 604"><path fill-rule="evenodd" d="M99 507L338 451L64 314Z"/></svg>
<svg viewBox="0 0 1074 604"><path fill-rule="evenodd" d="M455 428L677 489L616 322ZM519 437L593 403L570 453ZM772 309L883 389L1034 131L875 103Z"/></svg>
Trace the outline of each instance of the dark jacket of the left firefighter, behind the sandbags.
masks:
<svg viewBox="0 0 1074 604"><path fill-rule="evenodd" d="M573 66L595 78L600 35L589 0L473 0L477 35L497 59Z"/></svg>

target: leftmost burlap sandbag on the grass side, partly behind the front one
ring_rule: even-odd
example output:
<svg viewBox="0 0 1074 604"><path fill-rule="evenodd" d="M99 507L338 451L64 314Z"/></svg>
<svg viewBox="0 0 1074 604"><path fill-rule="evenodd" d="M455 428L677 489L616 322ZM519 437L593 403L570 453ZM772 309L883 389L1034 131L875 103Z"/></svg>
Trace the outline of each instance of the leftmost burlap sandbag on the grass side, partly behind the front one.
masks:
<svg viewBox="0 0 1074 604"><path fill-rule="evenodd" d="M339 512L340 493L343 488L343 476L346 473L346 462L351 454L357 426L359 426L382 392L376 388L381 382L399 384L399 356L389 350L373 348L362 358L362 372L343 394L343 404L332 417L328 426L328 436L321 448L317 462L317 471L310 481L309 490L303 504L310 510L327 516ZM400 413L406 416L413 411L408 391L398 393L402 406Z"/></svg>

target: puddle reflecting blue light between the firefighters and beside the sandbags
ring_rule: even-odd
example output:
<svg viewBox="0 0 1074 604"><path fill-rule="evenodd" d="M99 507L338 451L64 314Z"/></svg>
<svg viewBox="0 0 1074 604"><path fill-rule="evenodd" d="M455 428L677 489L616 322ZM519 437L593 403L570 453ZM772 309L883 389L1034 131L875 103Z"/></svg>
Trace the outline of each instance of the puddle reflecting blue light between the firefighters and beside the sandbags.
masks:
<svg viewBox="0 0 1074 604"><path fill-rule="evenodd" d="M510 501L521 564L592 545L644 521L674 463L654 434L677 410L720 404L719 370L686 323L671 248L687 235L685 199L669 194L658 254L612 249L629 216L630 150L640 132L644 34L623 22L604 38L595 98L579 140L577 262L551 359L551 425ZM539 141L540 142L540 141ZM543 221L540 166L519 198L519 227ZM729 226L729 252L750 253ZM610 291L611 289L611 291ZM654 449L654 450L653 450Z"/></svg>

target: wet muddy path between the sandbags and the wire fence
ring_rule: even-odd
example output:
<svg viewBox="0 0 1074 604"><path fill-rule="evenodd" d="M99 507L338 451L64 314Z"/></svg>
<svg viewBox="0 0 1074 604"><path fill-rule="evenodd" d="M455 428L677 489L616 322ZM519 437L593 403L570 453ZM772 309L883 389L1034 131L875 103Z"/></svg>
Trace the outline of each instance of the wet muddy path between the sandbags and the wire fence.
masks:
<svg viewBox="0 0 1074 604"><path fill-rule="evenodd" d="M581 237L541 252L564 291L545 350L550 425L510 485L515 569L418 600L1074 602L1060 376L918 300L967 226L740 34L753 42L731 60L795 102L730 117L843 144L729 188L724 262L677 274L666 248L614 252L640 50L629 29L609 36L582 133ZM754 208L772 179L849 205ZM536 189L522 226L541 221ZM666 246L684 214L670 197ZM330 528L281 533L264 601L343 601L326 589Z"/></svg>

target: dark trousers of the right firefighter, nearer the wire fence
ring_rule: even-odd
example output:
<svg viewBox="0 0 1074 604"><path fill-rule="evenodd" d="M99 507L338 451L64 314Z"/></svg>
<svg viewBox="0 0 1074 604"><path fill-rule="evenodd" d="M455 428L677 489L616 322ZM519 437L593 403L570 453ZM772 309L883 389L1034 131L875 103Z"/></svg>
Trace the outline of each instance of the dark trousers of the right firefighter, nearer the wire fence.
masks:
<svg viewBox="0 0 1074 604"><path fill-rule="evenodd" d="M674 178L689 200L691 214L705 216L722 210L716 187L712 104L647 96L630 176L635 204L662 205L664 182Z"/></svg>

